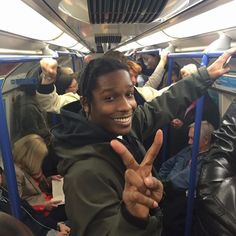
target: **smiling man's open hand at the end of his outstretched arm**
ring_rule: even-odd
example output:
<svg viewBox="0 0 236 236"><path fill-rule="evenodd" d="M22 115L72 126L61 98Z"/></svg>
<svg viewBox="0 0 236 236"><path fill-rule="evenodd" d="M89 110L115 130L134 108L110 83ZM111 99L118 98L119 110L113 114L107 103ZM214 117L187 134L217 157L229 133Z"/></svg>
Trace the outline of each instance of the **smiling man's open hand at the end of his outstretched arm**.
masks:
<svg viewBox="0 0 236 236"><path fill-rule="evenodd" d="M230 67L225 66L225 62L234 53L236 53L236 47L225 51L214 63L207 67L209 76L214 79L229 72Z"/></svg>

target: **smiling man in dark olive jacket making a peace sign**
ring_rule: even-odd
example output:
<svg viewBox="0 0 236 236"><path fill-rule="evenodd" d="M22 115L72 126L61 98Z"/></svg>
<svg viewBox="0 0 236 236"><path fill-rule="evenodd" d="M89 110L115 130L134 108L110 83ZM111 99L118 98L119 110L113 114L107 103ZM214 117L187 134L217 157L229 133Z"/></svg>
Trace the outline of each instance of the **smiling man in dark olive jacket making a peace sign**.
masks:
<svg viewBox="0 0 236 236"><path fill-rule="evenodd" d="M63 107L63 123L52 131L71 235L161 235L163 186L152 171L161 131L147 153L142 143L228 72L223 64L235 51L138 107L126 65L89 62L79 84L82 107Z"/></svg>

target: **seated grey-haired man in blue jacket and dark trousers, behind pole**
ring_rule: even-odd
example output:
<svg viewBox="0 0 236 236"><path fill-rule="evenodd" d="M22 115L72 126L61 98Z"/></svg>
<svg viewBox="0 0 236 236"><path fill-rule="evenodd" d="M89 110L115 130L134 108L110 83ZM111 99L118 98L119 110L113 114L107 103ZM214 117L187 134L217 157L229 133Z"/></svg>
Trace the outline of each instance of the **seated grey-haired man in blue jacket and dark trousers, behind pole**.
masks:
<svg viewBox="0 0 236 236"><path fill-rule="evenodd" d="M207 157L211 146L213 126L207 121L202 121L199 137L199 154L197 156L196 183L201 171L201 165ZM189 187L190 167L192 158L192 144L194 137L194 123L189 127L188 144L174 157L165 161L159 171L162 181L165 182L166 198L163 210L163 236L184 235L187 189Z"/></svg>

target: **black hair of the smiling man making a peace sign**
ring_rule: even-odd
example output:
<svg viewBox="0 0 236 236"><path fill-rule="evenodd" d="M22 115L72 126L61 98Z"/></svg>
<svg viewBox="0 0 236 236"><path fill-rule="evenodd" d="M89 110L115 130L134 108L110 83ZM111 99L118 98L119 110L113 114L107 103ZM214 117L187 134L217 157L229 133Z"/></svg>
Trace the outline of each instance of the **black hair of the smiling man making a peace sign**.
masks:
<svg viewBox="0 0 236 236"><path fill-rule="evenodd" d="M102 57L90 61L80 75L79 94L91 102L98 77L117 70L129 72L127 65L112 58Z"/></svg>

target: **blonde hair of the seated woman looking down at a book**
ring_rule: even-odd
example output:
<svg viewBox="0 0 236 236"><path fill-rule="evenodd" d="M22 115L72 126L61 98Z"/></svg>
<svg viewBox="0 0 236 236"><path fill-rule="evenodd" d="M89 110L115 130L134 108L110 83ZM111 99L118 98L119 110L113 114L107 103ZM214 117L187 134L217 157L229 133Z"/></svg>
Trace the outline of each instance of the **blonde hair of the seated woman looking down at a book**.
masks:
<svg viewBox="0 0 236 236"><path fill-rule="evenodd" d="M37 134L26 135L13 145L14 162L31 176L41 172L47 154L47 145Z"/></svg>

